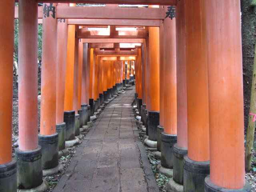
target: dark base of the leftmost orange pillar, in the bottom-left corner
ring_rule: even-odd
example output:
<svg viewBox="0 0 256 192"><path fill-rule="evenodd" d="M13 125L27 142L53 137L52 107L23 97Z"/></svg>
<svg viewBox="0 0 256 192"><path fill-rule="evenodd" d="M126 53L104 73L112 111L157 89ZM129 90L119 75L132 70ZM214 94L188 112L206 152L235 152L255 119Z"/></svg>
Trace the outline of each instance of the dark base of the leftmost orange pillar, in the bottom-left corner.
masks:
<svg viewBox="0 0 256 192"><path fill-rule="evenodd" d="M17 192L17 162L0 165L0 191Z"/></svg>

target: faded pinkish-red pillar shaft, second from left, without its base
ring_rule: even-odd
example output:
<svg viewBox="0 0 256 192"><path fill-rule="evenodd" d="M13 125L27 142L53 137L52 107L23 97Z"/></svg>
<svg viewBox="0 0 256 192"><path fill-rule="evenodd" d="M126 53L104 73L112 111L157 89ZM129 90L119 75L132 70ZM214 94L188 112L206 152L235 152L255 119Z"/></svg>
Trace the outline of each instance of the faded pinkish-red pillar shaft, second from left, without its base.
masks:
<svg viewBox="0 0 256 192"><path fill-rule="evenodd" d="M29 12L27 10L30 10ZM19 149L38 148L38 76L37 36L38 5L20 1L19 5ZM10 43L10 42L9 42ZM30 118L27 118L27 116Z"/></svg>

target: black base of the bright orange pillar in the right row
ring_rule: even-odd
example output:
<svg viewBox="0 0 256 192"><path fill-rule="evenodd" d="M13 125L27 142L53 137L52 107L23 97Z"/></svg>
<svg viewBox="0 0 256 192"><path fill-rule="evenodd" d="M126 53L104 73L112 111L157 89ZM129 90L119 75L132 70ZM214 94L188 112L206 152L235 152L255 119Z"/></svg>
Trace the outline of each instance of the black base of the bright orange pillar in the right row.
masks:
<svg viewBox="0 0 256 192"><path fill-rule="evenodd" d="M157 126L159 125L159 111L148 112L148 139L157 140Z"/></svg>

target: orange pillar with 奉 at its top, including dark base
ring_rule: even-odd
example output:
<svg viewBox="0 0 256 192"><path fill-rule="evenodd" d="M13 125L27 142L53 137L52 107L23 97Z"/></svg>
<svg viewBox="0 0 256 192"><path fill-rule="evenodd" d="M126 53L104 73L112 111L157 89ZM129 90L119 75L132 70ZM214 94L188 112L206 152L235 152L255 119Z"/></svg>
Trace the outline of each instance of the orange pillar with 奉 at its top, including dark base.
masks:
<svg viewBox="0 0 256 192"><path fill-rule="evenodd" d="M164 6L168 12L168 6ZM177 142L176 19L164 19L164 132L161 165L173 168L173 147Z"/></svg>

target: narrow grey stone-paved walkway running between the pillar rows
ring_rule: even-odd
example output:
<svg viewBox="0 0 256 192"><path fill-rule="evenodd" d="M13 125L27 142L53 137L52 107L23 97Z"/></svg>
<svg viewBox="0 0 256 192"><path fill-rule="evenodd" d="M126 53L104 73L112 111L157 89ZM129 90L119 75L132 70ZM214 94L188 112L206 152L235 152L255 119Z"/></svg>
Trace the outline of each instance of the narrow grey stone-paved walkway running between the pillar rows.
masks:
<svg viewBox="0 0 256 192"><path fill-rule="evenodd" d="M159 192L132 111L135 86L102 111L54 192Z"/></svg>

